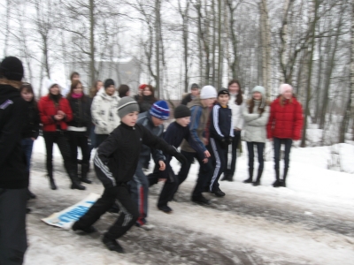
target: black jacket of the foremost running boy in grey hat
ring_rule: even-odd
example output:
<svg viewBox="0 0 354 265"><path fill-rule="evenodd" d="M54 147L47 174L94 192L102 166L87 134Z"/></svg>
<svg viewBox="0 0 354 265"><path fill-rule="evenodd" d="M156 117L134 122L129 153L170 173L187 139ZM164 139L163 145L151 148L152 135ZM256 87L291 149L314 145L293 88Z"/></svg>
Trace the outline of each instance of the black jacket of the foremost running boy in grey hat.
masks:
<svg viewBox="0 0 354 265"><path fill-rule="evenodd" d="M133 179L142 145L161 149L169 155L177 150L165 140L150 133L144 126L134 127L121 123L96 151L94 163L103 175L97 175L105 188L119 186Z"/></svg>

